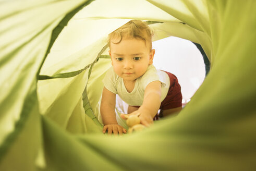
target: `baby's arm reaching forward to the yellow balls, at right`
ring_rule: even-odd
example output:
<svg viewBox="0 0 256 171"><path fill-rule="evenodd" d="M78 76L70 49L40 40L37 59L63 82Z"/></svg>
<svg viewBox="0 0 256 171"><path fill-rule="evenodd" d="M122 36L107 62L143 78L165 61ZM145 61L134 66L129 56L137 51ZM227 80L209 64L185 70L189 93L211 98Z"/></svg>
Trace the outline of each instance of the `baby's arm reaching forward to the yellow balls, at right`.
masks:
<svg viewBox="0 0 256 171"><path fill-rule="evenodd" d="M141 124L149 126L153 123L153 117L156 115L161 105L161 82L153 81L145 88L143 103L138 109Z"/></svg>

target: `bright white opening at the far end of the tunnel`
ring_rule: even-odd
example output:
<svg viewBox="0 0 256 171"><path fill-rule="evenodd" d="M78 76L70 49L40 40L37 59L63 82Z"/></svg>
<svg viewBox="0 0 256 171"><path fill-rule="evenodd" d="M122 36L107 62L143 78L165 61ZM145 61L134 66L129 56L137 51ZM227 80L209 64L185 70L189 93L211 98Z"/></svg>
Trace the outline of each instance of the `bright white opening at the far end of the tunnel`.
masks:
<svg viewBox="0 0 256 171"><path fill-rule="evenodd" d="M188 102L205 78L205 65L197 46L188 40L170 36L153 42L153 48L154 66L178 78L182 102Z"/></svg>

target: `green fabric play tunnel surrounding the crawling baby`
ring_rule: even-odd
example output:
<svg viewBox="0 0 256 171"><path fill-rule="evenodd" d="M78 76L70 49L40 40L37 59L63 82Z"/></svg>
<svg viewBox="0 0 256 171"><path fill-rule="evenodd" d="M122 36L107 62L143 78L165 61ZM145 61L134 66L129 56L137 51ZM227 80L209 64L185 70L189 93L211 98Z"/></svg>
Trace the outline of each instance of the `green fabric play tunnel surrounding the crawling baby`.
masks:
<svg viewBox="0 0 256 171"><path fill-rule="evenodd" d="M256 1L0 1L0 170L253 170ZM176 117L101 133L107 34L200 44L211 70ZM121 120L119 120L121 121Z"/></svg>

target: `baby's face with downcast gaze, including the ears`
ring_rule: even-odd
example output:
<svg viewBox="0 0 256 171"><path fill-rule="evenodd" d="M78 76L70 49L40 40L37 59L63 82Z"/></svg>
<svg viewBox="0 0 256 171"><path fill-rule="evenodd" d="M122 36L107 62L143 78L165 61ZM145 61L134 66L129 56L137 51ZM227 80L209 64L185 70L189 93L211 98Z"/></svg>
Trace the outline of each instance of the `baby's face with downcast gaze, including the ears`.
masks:
<svg viewBox="0 0 256 171"><path fill-rule="evenodd" d="M117 44L111 42L109 55L116 74L124 81L133 82L153 63L154 50L150 51L141 39L123 39Z"/></svg>

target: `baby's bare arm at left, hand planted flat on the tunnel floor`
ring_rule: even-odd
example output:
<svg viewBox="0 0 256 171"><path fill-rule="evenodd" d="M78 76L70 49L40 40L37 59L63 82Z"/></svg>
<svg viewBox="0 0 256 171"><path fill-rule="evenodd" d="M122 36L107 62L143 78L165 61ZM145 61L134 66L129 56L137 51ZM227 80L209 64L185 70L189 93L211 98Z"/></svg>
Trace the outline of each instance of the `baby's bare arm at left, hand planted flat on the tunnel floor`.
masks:
<svg viewBox="0 0 256 171"><path fill-rule="evenodd" d="M116 113L115 113L115 105L116 105L116 94L107 90L105 87L102 92L102 100L101 100L101 116L103 120L103 133L108 132L108 134L112 134L112 132L117 135L118 133L126 133L126 129L117 124Z"/></svg>

